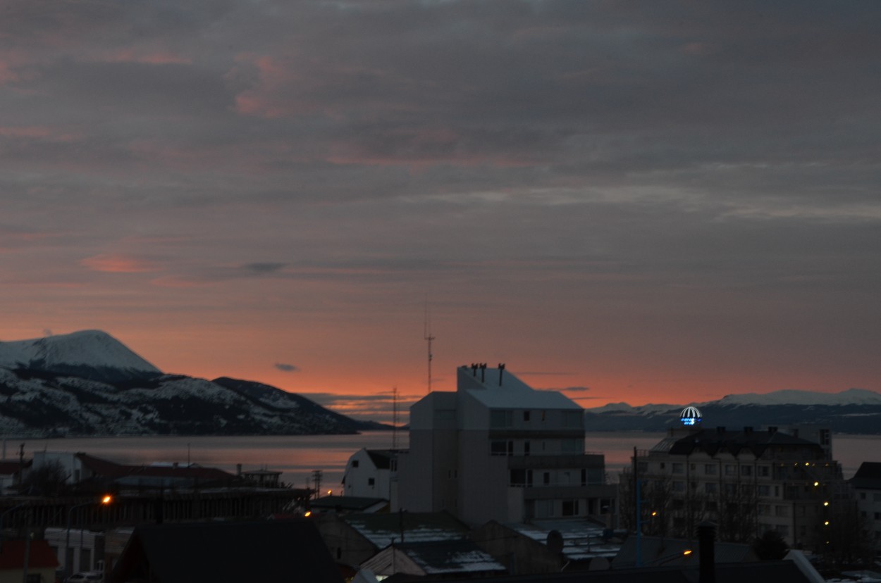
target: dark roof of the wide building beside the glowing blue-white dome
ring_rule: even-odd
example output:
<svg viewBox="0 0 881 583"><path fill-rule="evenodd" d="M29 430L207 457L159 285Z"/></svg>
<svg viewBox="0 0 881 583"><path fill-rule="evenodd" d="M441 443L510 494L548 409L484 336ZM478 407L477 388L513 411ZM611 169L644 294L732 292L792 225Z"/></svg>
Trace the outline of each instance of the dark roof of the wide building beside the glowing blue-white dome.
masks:
<svg viewBox="0 0 881 583"><path fill-rule="evenodd" d="M776 430L735 432L728 431L724 427L704 429L700 432L690 433L682 439L677 439L670 446L670 454L688 455L695 452L706 452L715 455L719 452L725 452L737 455L746 450L756 457L761 457L768 448L772 447L786 450L813 450L818 458L825 455L823 448L818 443L796 438L787 433Z"/></svg>

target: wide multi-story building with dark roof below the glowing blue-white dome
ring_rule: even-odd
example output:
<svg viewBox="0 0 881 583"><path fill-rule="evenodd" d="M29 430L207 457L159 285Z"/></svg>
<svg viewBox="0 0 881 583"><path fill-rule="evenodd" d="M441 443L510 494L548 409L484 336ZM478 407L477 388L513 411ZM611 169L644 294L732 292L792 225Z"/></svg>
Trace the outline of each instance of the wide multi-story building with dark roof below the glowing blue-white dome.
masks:
<svg viewBox="0 0 881 583"><path fill-rule="evenodd" d="M748 542L774 530L794 548L822 551L836 509L848 504L825 428L684 424L639 452L633 469L620 481L635 518L629 526L638 521L654 535L687 538L712 520L723 541Z"/></svg>

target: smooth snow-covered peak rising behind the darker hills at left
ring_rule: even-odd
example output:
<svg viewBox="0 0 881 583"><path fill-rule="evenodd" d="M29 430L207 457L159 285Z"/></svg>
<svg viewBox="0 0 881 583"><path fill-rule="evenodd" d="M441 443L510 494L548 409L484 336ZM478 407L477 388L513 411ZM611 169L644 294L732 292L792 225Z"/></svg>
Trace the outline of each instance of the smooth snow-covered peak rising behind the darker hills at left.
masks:
<svg viewBox="0 0 881 583"><path fill-rule="evenodd" d="M111 381L161 374L158 368L100 330L0 342L0 366Z"/></svg>

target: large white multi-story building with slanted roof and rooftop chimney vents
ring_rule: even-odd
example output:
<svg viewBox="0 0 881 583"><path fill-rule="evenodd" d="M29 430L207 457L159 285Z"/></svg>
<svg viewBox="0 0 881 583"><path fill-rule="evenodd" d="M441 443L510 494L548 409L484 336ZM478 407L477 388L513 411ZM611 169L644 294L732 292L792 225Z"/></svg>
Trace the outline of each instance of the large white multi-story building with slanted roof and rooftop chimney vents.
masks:
<svg viewBox="0 0 881 583"><path fill-rule="evenodd" d="M602 454L585 454L584 415L556 391L513 374L461 366L456 391L411 406L393 509L448 511L470 523L615 512Z"/></svg>

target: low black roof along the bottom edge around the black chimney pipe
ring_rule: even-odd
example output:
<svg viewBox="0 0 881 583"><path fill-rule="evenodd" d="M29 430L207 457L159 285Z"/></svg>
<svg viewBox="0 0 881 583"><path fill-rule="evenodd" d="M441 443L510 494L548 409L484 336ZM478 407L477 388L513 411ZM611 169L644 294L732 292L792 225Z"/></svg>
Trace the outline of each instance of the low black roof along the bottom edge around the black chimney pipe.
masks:
<svg viewBox="0 0 881 583"><path fill-rule="evenodd" d="M401 581L423 581L425 578L406 575L393 575L386 579L395 583ZM444 577L444 583L474 583L470 578ZM697 567L654 567L641 569L621 569L618 571L574 571L556 573L536 573L530 575L503 575L500 577L481 577L481 583L700 583ZM792 561L759 561L716 565L716 583L812 583Z"/></svg>

